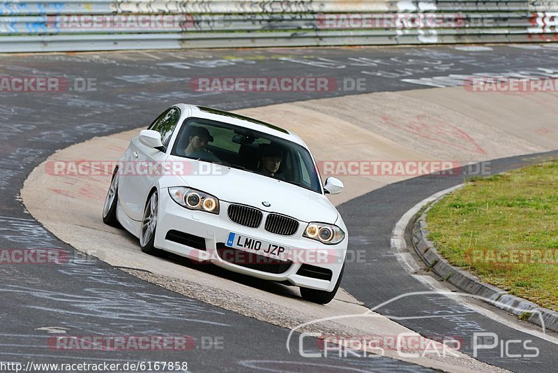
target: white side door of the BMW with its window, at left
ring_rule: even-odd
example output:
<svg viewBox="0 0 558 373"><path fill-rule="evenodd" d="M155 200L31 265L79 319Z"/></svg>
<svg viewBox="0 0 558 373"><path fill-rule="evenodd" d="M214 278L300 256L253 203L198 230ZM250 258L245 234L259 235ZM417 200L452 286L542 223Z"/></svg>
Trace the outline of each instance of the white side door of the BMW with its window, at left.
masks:
<svg viewBox="0 0 558 373"><path fill-rule="evenodd" d="M130 175L121 177L119 188L123 191L121 205L131 219L142 220L147 195L160 177L160 163L167 159L166 149L176 124L179 123L180 114L179 108L170 108L149 126L149 129L160 133L164 149L153 149L142 144L139 136L130 142L131 164L126 165L126 170L131 172ZM119 193L119 198L121 194Z"/></svg>

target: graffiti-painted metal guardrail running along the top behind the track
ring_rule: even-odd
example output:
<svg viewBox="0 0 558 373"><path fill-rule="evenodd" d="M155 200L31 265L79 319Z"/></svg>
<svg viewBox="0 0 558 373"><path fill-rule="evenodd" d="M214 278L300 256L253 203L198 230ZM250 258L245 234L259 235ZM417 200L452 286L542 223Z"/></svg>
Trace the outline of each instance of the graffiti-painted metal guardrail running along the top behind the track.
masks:
<svg viewBox="0 0 558 373"><path fill-rule="evenodd" d="M557 1L6 1L0 52L558 41Z"/></svg>

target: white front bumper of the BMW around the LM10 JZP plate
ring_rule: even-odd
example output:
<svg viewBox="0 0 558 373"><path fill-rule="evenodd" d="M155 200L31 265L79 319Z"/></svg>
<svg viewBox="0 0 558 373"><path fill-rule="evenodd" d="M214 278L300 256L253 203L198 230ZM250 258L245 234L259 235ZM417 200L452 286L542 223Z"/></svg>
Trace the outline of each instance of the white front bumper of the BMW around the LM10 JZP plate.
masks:
<svg viewBox="0 0 558 373"><path fill-rule="evenodd" d="M227 216L227 208L230 203L220 201L220 214L210 214L208 212L188 210L178 205L170 198L167 189L161 189L159 192L159 214L157 231L155 235L155 247L165 251L172 252L180 256L186 256L195 261L208 261L219 265L220 267L232 270L234 272L243 273L260 279L271 281L288 281L295 286L305 288L313 288L323 291L333 291L335 283L339 277L345 254L347 252L347 241L345 240L335 245L326 245L315 240L302 237L303 231L306 229L307 222L300 221L299 229L292 236L277 235L264 230L264 221L259 228L248 228L240 224L236 224ZM264 216L265 219L265 216ZM176 242L175 239L167 236L170 231L186 233L201 238L199 244L184 242ZM247 254L241 251L239 254L243 258L243 263L232 263L230 258L233 257L229 249L229 256L225 256L229 261L224 260L221 256L225 242L230 232L238 233L248 237L254 237L258 240L281 244L290 247L289 261L279 262L277 260L262 263L262 259L266 261L266 257L256 258L258 261L254 263L255 255ZM204 244L204 247L200 247ZM219 249L219 250L218 250ZM246 263L250 262L250 265ZM278 265L278 267L269 267L270 265ZM331 278L324 279L324 275L316 276L318 272L331 271ZM274 273L280 272L280 273ZM317 278L319 277L319 278ZM329 276L327 276L329 277Z"/></svg>

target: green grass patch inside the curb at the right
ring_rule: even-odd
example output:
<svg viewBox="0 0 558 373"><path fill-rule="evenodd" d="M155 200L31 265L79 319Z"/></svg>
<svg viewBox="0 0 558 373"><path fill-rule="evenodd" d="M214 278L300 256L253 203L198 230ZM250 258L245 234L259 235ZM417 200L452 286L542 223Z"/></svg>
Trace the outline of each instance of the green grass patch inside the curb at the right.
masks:
<svg viewBox="0 0 558 373"><path fill-rule="evenodd" d="M530 256L527 263L472 259L478 250L558 252L558 161L469 182L435 204L427 222L430 240L453 265L558 311L558 258L554 263L529 263Z"/></svg>

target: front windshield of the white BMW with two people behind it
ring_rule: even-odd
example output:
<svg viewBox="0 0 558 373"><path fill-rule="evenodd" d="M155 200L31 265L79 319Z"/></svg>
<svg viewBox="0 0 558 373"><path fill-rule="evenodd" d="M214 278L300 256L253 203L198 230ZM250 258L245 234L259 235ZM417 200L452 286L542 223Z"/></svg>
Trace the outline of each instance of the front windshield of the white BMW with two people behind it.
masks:
<svg viewBox="0 0 558 373"><path fill-rule="evenodd" d="M317 170L305 147L245 127L188 118L171 154L259 173L322 193Z"/></svg>

